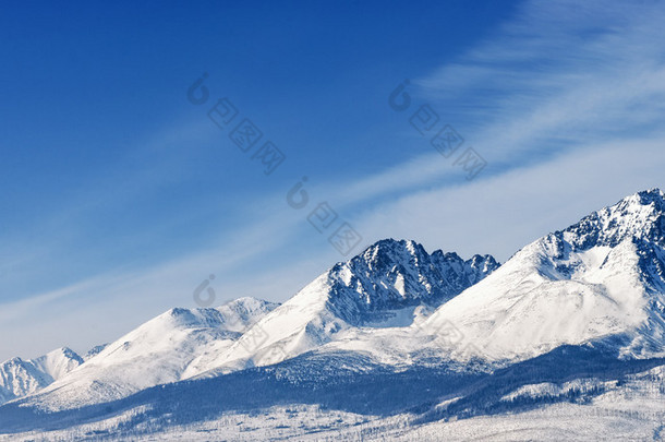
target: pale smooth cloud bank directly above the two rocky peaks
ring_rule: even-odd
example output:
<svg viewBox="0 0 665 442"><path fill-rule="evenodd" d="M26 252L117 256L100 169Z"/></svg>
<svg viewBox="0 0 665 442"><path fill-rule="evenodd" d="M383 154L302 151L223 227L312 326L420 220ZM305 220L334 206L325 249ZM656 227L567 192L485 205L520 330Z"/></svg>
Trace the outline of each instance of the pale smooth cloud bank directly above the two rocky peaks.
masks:
<svg viewBox="0 0 665 442"><path fill-rule="evenodd" d="M584 146L537 166L467 186L415 192L363 213L373 239L418 240L469 258L508 259L522 246L565 228L621 198L665 187L665 138Z"/></svg>

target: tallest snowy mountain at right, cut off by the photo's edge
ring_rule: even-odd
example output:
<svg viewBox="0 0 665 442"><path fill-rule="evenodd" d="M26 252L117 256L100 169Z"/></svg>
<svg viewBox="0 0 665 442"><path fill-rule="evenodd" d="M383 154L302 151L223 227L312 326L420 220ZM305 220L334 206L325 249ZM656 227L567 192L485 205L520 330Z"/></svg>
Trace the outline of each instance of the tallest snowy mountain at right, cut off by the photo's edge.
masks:
<svg viewBox="0 0 665 442"><path fill-rule="evenodd" d="M665 355L665 194L640 192L527 246L423 324L455 326L448 350L534 357L614 336L624 356ZM472 345L468 345L472 343Z"/></svg>

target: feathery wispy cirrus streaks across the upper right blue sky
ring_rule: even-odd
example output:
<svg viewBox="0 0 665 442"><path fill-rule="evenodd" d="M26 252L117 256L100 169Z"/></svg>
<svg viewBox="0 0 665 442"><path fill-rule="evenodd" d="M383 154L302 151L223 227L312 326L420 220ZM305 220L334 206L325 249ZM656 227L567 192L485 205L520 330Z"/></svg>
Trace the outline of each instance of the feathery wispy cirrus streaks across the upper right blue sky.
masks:
<svg viewBox="0 0 665 442"><path fill-rule="evenodd" d="M479 179L603 143L653 141L665 134L664 19L662 2L525 2L487 41L412 81L420 103L409 112L427 103L455 123L488 162ZM412 131L404 143L428 140ZM366 206L403 190L467 186L450 163L433 150L337 192Z"/></svg>

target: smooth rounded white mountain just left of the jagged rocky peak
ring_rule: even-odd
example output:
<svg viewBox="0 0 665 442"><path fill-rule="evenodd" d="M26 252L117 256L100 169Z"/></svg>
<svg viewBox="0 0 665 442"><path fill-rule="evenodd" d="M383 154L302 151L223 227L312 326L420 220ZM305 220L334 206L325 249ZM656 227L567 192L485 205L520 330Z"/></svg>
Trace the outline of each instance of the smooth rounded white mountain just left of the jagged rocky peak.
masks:
<svg viewBox="0 0 665 442"><path fill-rule="evenodd" d="M95 404L197 374L201 358L231 346L276 307L240 298L217 309L171 309L107 345L28 402L41 402L48 409Z"/></svg>

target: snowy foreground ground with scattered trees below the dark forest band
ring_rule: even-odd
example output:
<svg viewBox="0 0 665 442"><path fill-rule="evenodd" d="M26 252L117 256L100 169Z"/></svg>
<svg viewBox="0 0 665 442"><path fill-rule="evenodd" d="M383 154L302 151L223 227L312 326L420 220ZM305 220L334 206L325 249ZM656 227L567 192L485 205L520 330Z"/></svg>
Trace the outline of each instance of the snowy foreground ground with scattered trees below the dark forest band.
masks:
<svg viewBox="0 0 665 442"><path fill-rule="evenodd" d="M2 434L0 441L658 441L665 437L665 367L626 377L621 382L580 379L560 384L529 384L506 395L537 407L464 419L423 420L416 410L396 415L359 414L319 405L283 404L229 410L201 421L135 425L141 408L109 414L53 431ZM590 393L600 389L596 394ZM587 392L587 393L585 393ZM553 402L560 395L580 401ZM444 401L446 408L457 398Z"/></svg>

